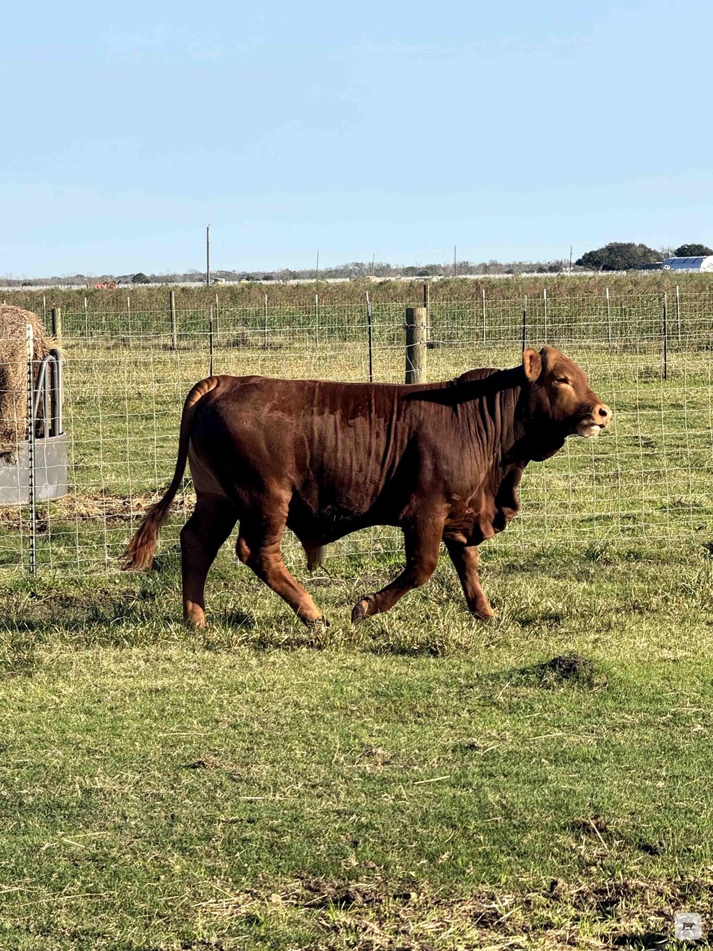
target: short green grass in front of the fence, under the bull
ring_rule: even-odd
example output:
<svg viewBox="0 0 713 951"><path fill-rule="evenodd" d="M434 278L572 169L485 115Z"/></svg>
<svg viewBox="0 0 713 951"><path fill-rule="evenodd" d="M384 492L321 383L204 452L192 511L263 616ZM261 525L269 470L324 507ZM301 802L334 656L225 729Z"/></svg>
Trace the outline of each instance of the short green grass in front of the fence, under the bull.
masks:
<svg viewBox="0 0 713 951"><path fill-rule="evenodd" d="M444 562L357 631L388 572L337 563L318 634L228 553L185 631L178 567L3 585L0 946L601 946L713 913L705 551L493 549L495 623Z"/></svg>

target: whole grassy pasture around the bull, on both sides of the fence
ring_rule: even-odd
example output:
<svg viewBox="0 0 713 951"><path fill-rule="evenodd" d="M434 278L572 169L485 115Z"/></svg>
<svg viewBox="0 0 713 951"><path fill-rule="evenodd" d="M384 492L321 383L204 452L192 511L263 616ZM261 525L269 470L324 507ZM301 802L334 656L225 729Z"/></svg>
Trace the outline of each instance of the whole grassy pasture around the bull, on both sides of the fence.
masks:
<svg viewBox="0 0 713 951"><path fill-rule="evenodd" d="M172 472L207 337L67 339L72 493L40 507L37 577L27 513L0 513L0 947L664 947L676 911L713 926L700 313L666 379L653 332L563 335L614 422L526 471L522 514L482 549L494 622L470 618L444 557L352 629L398 570L396 534L332 546L306 580L288 539L320 633L230 544L210 627L183 628L187 479L157 571L116 573ZM519 359L516 331L468 329L436 340L429 378ZM366 350L324 330L265 345L228 324L215 370L366 378ZM400 335L376 341L375 378L401 378Z"/></svg>

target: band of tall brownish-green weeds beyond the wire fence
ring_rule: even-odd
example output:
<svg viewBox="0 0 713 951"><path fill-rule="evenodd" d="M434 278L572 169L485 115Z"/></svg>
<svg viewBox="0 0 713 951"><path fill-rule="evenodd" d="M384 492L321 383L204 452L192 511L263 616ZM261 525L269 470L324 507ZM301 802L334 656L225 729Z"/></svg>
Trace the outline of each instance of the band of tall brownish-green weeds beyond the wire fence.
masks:
<svg viewBox="0 0 713 951"><path fill-rule="evenodd" d="M218 301L218 295L216 295ZM551 343L606 341L614 347L636 345L643 340L661 339L661 302L658 294L622 295L614 298L607 293L601 297L568 297L555 299L544 293L541 299L530 297L523 305L519 301L488 301L483 296L478 301L436 301L429 304L429 329L432 342L485 342L505 340L514 336L513 321L516 319L518 337L522 336L523 318L527 322L527 334L533 340ZM359 334L366 339L367 327L361 303L349 305L325 304L318 301L305 304L270 304L267 294L262 305L223 306L220 309L220 326L217 326L216 341L227 345L249 344L260 331L263 343L268 335L288 333L306 336L316 345L332 340L354 340ZM708 330L711 313L709 295L695 292L677 293L676 342L692 333ZM57 310L55 308L55 310ZM398 342L403 325L404 305L400 302L371 302L375 342ZM477 321L476 311L481 320ZM53 311L54 313L54 311ZM166 301L165 309L138 310L130 306L125 310L92 312L87 308L62 313L61 321L67 339L85 340L118 339L132 341L164 338L175 343L177 335L185 340L186 335L207 333L209 308L176 306L174 292ZM48 328L49 329L49 328ZM232 338L232 340L231 340ZM277 338L275 338L277 339ZM674 340L668 339L670 346Z"/></svg>

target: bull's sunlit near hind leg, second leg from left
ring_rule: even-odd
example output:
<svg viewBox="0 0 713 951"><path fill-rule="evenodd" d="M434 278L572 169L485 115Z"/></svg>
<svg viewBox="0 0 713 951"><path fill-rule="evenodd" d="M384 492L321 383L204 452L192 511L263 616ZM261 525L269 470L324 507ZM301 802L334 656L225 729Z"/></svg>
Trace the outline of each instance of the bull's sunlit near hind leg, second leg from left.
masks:
<svg viewBox="0 0 713 951"><path fill-rule="evenodd" d="M279 550L285 518L278 521L274 516L269 524L249 525L241 522L236 552L243 565L251 568L268 588L279 594L298 615L304 624L326 624L309 592L287 571Z"/></svg>

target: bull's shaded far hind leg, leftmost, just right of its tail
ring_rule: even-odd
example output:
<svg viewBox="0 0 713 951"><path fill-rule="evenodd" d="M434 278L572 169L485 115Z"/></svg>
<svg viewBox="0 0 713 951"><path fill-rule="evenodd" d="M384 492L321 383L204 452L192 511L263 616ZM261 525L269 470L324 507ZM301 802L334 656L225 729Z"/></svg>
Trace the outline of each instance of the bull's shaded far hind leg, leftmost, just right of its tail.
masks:
<svg viewBox="0 0 713 951"><path fill-rule="evenodd" d="M181 531L183 620L205 627L205 578L222 543L233 531L238 510L223 495L201 493Z"/></svg>

